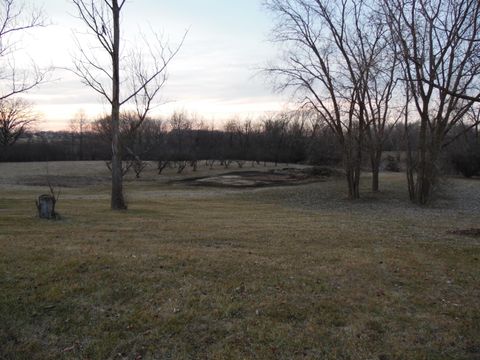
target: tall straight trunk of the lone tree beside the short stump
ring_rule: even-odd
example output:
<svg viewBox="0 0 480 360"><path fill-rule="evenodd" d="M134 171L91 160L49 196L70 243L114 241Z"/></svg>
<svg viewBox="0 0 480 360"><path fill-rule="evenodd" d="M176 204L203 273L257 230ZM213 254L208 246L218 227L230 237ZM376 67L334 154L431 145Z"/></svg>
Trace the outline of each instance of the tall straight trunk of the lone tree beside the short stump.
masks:
<svg viewBox="0 0 480 360"><path fill-rule="evenodd" d="M112 210L127 208L123 198L122 153L120 144L120 8L112 1L113 54L112 54Z"/></svg>

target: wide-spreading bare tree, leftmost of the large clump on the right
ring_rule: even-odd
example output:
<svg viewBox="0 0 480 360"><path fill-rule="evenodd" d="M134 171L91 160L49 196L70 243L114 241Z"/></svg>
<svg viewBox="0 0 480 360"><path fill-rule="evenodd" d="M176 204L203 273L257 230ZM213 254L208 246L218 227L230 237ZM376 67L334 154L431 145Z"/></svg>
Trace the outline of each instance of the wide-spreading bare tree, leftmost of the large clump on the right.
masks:
<svg viewBox="0 0 480 360"><path fill-rule="evenodd" d="M267 0L277 15L274 41L284 61L267 72L293 88L337 136L351 199L360 197L360 172L372 64L383 55L376 12L363 0ZM374 102L372 102L374 104ZM378 112L378 109L374 109Z"/></svg>

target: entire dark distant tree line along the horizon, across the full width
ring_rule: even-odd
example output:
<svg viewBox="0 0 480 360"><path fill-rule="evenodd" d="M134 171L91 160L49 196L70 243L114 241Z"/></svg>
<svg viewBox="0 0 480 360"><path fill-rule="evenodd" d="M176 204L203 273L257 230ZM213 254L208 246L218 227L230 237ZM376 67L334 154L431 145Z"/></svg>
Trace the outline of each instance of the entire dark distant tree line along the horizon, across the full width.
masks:
<svg viewBox="0 0 480 360"><path fill-rule="evenodd" d="M342 148L335 133L314 112L292 111L257 119L231 119L219 128L189 116L174 113L163 120L145 119L137 126L134 114L121 116L120 143L124 162L141 168L143 161L155 161L158 172L176 166L179 172L196 169L199 162L212 167L243 167L275 164L312 164L342 166ZM109 117L87 122L78 114L69 131L26 132L15 146L5 148L3 161L75 161L111 159ZM480 172L480 140L478 126L459 123L449 134L442 153L442 170L474 176ZM380 168L392 171L405 169L407 143L416 145L419 123L403 123L386 127L382 149L397 155L383 156ZM408 135L408 139L406 136ZM370 170L370 149L364 145L362 168ZM403 160L402 160L403 159ZM138 170L137 169L137 170ZM141 171L141 169L140 169Z"/></svg>

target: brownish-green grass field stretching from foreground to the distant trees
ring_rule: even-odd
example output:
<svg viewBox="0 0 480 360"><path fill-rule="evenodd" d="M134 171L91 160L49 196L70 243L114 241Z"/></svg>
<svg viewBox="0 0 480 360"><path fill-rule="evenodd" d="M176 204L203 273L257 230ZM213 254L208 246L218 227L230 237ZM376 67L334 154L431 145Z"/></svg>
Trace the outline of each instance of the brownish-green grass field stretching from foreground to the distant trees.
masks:
<svg viewBox="0 0 480 360"><path fill-rule="evenodd" d="M478 179L419 208L402 174L352 203L343 179L152 167L111 212L103 163L49 173L59 221L36 218L45 164L0 164L2 359L480 359L480 238L451 233L480 226Z"/></svg>

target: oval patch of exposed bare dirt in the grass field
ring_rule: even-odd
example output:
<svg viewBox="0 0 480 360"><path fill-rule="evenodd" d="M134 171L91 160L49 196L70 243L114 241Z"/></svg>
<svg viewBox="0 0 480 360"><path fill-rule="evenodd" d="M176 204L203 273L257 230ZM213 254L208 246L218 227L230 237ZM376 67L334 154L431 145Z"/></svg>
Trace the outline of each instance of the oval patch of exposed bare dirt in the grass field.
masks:
<svg viewBox="0 0 480 360"><path fill-rule="evenodd" d="M327 178L338 175L337 171L329 168L282 168L265 171L237 171L215 176L188 178L182 183L196 186L250 188L285 185L302 185L312 182L325 181Z"/></svg>

